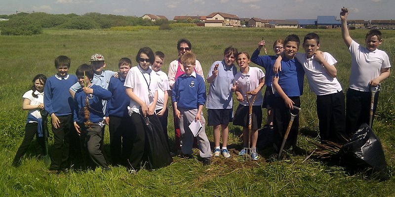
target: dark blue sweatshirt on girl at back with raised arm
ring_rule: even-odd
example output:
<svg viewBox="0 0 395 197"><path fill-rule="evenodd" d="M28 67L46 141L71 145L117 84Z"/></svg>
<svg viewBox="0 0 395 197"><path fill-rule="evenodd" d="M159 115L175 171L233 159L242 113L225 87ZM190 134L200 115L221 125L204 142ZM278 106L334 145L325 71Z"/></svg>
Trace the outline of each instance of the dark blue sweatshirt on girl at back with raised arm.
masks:
<svg viewBox="0 0 395 197"><path fill-rule="evenodd" d="M276 62L276 55L259 55L259 50L255 49L251 56L251 62L265 69L265 85L271 87L273 80L273 65Z"/></svg>

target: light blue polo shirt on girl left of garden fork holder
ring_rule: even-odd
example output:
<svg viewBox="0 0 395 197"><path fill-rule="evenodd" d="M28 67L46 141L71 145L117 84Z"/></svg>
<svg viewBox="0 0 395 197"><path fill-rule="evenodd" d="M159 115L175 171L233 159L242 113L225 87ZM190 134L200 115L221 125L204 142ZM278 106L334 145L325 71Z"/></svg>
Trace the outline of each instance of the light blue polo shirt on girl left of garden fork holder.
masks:
<svg viewBox="0 0 395 197"><path fill-rule="evenodd" d="M211 65L207 78L213 75L212 72L216 64L219 65L218 75L210 83L208 88L206 107L207 109L232 109L233 98L231 88L233 86L232 81L237 74L237 68L234 64L228 67L224 61L215 61Z"/></svg>

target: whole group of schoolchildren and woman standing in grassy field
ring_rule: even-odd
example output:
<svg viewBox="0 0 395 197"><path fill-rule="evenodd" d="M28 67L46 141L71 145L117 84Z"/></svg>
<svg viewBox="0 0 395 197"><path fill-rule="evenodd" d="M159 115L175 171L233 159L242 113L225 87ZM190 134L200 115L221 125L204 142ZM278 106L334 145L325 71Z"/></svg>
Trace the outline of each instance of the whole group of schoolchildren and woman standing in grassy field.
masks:
<svg viewBox="0 0 395 197"><path fill-rule="evenodd" d="M55 59L57 73L48 79L43 75L36 76L32 90L23 96L23 109L29 110L29 116L25 139L13 164L20 162L35 130L39 131L38 137L42 137L40 110L45 110L51 116L54 134L51 171L68 171L71 150L74 154L82 153L85 166L110 169L102 150L105 123L109 125L114 164L129 166L132 171L141 169L145 164L150 169L168 165L172 161L167 137L169 96L173 106L177 149L183 157L193 158L196 137L203 165L211 164L212 155L218 157L222 154L230 158L227 149L228 124L233 121L234 125L243 127L244 148L239 155L249 154L257 160L256 144L258 129L262 125L262 108L268 110L266 126L274 128L274 147L278 152L291 112L294 107L300 107L305 74L311 90L317 95L321 142L343 143L361 123L368 122L369 86L377 86L388 78L391 65L388 55L377 49L382 42L380 31L369 31L365 39L366 47L362 47L349 35L348 12L342 10L340 15L342 36L352 54L347 103L336 79L337 61L329 53L318 50L319 37L315 33L307 34L303 40L305 54L298 52L300 39L296 35L289 35L284 40L277 39L273 44L276 55L259 55L265 47L265 40L258 43L251 58L247 52L227 47L224 59L215 61L210 67L206 78L209 83L207 96L201 65L191 52L192 44L187 39L178 41L179 58L170 63L168 77L161 71L164 54L160 51L154 54L149 47L138 51L138 65L135 67L131 67L130 59L120 59L118 74L103 71L106 66L104 57L94 54L91 65L79 66L77 77L69 75L70 58L59 56ZM260 68L250 67L250 61L262 66L266 76ZM264 85L266 90L262 95ZM239 101L235 117L233 93ZM212 154L205 134L204 105L208 109L207 125L213 126ZM252 109L251 115L249 108ZM193 121L200 121L202 125L195 136L189 127ZM296 117L284 147L292 147L293 153L297 148L298 121Z"/></svg>

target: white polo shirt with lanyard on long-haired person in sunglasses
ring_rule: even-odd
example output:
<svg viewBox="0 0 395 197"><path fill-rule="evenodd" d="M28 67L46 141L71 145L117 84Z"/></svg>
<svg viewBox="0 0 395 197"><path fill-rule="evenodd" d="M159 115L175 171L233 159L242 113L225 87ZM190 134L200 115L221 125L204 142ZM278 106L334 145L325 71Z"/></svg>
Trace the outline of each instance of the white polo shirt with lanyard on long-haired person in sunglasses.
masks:
<svg viewBox="0 0 395 197"><path fill-rule="evenodd" d="M154 101L154 97L149 95L150 92L152 95L155 95L155 91L158 89L157 78L157 74L150 68L147 71L144 71L140 66L135 66L127 73L124 86L132 88L133 93L147 106L150 106ZM150 92L148 89L150 89ZM131 112L140 114L139 109L141 106L134 100L130 99L129 107L129 115Z"/></svg>

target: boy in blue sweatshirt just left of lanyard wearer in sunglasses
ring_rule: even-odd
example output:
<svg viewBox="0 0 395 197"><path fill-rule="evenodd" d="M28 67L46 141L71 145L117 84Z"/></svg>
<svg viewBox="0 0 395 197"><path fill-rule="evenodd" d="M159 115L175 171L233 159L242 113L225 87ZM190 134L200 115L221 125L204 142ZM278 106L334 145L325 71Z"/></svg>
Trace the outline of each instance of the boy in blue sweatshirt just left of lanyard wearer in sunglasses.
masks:
<svg viewBox="0 0 395 197"><path fill-rule="evenodd" d="M132 149L132 139L129 132L130 119L127 113L130 99L126 95L125 86L123 86L131 67L132 61L129 58L121 58L118 63L119 77L112 77L108 85L112 97L107 102L106 123L110 130L110 154L115 165L126 165L126 160Z"/></svg>

